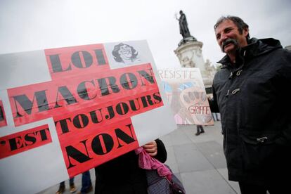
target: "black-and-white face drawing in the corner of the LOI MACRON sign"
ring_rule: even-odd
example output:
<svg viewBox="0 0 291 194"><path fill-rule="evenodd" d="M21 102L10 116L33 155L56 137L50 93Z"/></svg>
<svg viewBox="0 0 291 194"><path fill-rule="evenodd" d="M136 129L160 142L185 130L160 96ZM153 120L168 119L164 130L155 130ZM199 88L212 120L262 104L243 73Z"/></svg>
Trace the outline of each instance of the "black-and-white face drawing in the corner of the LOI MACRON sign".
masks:
<svg viewBox="0 0 291 194"><path fill-rule="evenodd" d="M134 46L129 44L117 44L112 51L114 59L118 63L133 63L139 60L138 51L134 49Z"/></svg>

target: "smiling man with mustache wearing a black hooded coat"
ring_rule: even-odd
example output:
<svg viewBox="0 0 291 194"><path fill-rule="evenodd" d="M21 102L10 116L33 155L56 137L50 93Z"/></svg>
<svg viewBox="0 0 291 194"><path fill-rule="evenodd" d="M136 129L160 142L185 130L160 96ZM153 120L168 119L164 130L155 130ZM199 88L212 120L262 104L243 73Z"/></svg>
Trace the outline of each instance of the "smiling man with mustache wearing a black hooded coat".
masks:
<svg viewBox="0 0 291 194"><path fill-rule="evenodd" d="M250 39L235 16L219 18L214 30L226 56L209 104L221 113L228 179L242 194L290 193L291 53L276 39Z"/></svg>

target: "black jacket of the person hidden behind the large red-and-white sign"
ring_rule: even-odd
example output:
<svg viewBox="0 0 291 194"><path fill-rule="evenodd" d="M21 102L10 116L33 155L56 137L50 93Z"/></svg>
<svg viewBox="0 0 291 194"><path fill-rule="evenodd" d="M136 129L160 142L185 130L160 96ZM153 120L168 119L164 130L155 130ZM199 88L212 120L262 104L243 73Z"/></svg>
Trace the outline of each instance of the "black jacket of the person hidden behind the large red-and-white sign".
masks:
<svg viewBox="0 0 291 194"><path fill-rule="evenodd" d="M160 139L157 155L160 162L167 160L167 150ZM148 182L145 169L138 167L138 155L131 151L95 168L96 194L147 194Z"/></svg>

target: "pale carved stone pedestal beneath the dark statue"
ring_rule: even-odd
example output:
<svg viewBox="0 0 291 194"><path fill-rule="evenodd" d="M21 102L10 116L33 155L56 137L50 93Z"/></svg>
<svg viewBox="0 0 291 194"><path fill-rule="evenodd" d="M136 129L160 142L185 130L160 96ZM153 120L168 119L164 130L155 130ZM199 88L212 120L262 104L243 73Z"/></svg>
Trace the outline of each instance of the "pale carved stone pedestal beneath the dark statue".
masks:
<svg viewBox="0 0 291 194"><path fill-rule="evenodd" d="M174 51L180 60L181 67L198 67L200 69L205 88L211 88L213 80L213 70L209 60L205 63L202 56L201 41L185 41L179 44Z"/></svg>

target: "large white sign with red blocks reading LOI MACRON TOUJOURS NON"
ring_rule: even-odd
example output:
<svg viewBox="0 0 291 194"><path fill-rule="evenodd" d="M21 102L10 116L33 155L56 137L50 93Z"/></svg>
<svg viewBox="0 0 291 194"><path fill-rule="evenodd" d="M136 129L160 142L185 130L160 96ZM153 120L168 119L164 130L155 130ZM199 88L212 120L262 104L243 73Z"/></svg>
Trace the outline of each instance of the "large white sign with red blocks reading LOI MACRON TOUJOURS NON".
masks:
<svg viewBox="0 0 291 194"><path fill-rule="evenodd" d="M0 68L0 193L37 193L176 129L146 41L3 54Z"/></svg>

